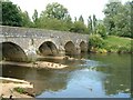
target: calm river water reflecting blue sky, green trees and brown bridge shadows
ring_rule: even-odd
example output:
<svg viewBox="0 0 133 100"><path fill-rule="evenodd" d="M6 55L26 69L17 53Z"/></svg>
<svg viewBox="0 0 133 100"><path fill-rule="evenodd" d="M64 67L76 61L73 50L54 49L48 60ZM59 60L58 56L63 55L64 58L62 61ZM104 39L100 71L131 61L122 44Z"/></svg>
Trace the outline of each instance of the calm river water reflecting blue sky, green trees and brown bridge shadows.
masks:
<svg viewBox="0 0 133 100"><path fill-rule="evenodd" d="M91 53L80 58L82 61L54 60L70 66L60 70L3 66L2 76L32 82L37 98L131 97L131 54Z"/></svg>

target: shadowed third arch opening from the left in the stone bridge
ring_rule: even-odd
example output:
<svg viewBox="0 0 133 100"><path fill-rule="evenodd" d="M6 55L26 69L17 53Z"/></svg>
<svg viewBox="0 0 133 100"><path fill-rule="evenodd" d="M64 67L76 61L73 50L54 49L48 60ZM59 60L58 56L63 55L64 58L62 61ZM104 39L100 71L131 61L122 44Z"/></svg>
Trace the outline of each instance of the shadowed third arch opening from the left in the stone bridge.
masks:
<svg viewBox="0 0 133 100"><path fill-rule="evenodd" d="M72 41L68 41L64 46L65 54L72 56L75 53L75 46Z"/></svg>

